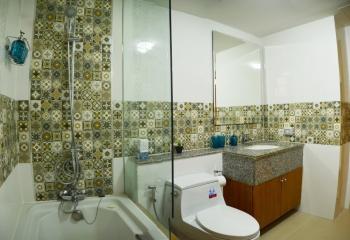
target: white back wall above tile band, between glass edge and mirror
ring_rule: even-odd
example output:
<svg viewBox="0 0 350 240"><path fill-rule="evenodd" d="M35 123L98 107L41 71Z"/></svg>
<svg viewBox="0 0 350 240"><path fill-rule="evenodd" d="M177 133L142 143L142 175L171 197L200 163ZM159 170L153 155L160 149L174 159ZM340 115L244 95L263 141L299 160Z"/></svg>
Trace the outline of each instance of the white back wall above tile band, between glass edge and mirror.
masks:
<svg viewBox="0 0 350 240"><path fill-rule="evenodd" d="M172 11L172 28L175 102L212 102L213 30L261 44L251 34L179 11Z"/></svg>

